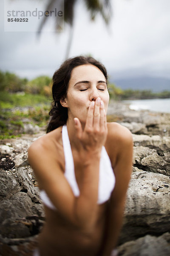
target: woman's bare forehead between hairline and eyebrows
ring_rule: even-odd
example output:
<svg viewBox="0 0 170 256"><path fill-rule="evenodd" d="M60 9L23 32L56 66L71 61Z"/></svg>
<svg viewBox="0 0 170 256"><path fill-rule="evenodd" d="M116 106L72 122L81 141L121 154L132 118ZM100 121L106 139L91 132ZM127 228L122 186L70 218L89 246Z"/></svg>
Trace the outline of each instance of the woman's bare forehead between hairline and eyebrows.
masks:
<svg viewBox="0 0 170 256"><path fill-rule="evenodd" d="M104 74L98 67L92 64L85 64L74 67L71 71L71 78L69 84L76 83L77 81L106 81Z"/></svg>

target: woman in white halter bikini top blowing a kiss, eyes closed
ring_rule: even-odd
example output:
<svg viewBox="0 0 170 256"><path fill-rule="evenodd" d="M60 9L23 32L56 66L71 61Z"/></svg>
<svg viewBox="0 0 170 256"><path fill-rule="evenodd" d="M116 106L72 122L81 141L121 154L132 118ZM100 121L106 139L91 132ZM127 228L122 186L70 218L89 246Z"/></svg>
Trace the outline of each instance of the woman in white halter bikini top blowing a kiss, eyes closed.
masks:
<svg viewBox="0 0 170 256"><path fill-rule="evenodd" d="M132 136L107 123L105 67L65 61L53 76L48 133L28 151L46 222L40 256L111 256L122 225L132 168Z"/></svg>

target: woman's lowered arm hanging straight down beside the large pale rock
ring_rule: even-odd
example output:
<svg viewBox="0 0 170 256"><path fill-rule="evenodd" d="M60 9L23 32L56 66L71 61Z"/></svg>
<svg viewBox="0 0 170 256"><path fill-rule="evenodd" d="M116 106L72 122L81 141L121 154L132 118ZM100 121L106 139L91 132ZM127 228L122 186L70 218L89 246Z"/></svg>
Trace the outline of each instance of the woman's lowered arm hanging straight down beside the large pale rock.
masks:
<svg viewBox="0 0 170 256"><path fill-rule="evenodd" d="M108 209L108 223L106 227L103 252L101 254L102 256L111 256L111 251L116 247L122 227L127 187L132 172L132 135L129 130L119 126L119 133L116 134L116 137L118 154L113 166L116 184L111 195L111 201Z"/></svg>

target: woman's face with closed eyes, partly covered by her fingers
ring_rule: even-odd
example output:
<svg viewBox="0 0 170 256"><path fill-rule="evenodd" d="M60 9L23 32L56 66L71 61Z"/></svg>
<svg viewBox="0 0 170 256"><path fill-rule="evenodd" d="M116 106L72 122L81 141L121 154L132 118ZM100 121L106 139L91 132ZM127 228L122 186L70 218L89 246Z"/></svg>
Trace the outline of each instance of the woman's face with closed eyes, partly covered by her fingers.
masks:
<svg viewBox="0 0 170 256"><path fill-rule="evenodd" d="M85 124L88 107L98 97L103 101L107 113L109 94L102 71L91 64L75 67L71 72L67 96L61 102L63 107L68 108L68 119L77 117Z"/></svg>

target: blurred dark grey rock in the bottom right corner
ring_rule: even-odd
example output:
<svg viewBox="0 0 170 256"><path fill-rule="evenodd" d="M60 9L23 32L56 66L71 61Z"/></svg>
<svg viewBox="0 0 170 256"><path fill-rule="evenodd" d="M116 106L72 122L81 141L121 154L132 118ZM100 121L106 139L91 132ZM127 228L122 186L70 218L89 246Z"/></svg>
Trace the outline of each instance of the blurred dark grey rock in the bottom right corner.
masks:
<svg viewBox="0 0 170 256"><path fill-rule="evenodd" d="M119 256L170 256L170 233L144 236L118 247Z"/></svg>

